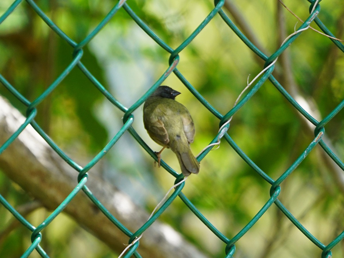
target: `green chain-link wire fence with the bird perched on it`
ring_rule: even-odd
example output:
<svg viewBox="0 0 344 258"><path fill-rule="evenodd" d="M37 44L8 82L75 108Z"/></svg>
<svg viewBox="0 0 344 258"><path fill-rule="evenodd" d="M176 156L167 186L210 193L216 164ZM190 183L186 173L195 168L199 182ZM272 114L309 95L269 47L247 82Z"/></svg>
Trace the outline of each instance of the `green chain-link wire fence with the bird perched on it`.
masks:
<svg viewBox="0 0 344 258"><path fill-rule="evenodd" d="M203 22L194 30L192 34L190 34L185 41L180 44L178 47L173 49L171 46L167 45L163 40L161 40L150 28L147 24L145 24L140 17L130 8L129 4L126 3L125 0L120 0L117 4L108 12L106 17L96 26L96 28L89 33L87 37L85 37L79 43L75 42L69 36L65 34L64 31L58 28L54 21L52 21L33 0L16 0L14 1L11 6L8 8L6 12L2 14L0 17L0 26L3 21L5 21L8 17L10 17L11 13L17 8L18 5L26 5L25 8L32 8L37 15L53 30L58 36L60 36L65 42L73 47L73 60L72 62L65 68L65 70L54 80L54 82L47 87L47 89L34 101L30 102L26 99L22 94L18 92L15 85L11 85L8 80L0 75L0 81L18 100L20 100L27 108L26 108L26 120L25 122L15 131L15 133L2 144L0 148L0 154L6 150L10 144L20 135L20 133L29 125L31 124L32 127L44 138L44 140L54 149L58 155L60 155L67 164L72 166L78 172L77 181L78 184L75 186L75 189L68 195L67 198L51 213L40 225L33 226L31 225L18 211L16 211L11 204L2 196L0 196L0 201L4 207L6 207L15 218L18 219L25 227L32 231L31 241L32 244L28 247L28 249L24 252L23 257L28 257L34 249L42 257L49 257L48 254L44 251L44 249L40 246L40 242L42 240L41 231L48 227L49 224L53 221L53 219L62 212L62 210L71 202L71 200L76 196L76 194L83 190L84 193L90 198L90 200L103 212L112 223L114 223L122 232L123 234L128 236L128 243L133 243L133 245L128 247L127 252L124 254L124 257L130 257L131 255L135 257L141 257L137 248L139 246L139 241L136 239L143 233L145 230L150 227L155 220L159 218L159 216L165 211L165 209L177 198L181 198L184 204L196 215L200 221L202 221L213 234L215 234L219 239L221 239L225 244L225 257L232 257L235 253L235 243L244 236L248 230L258 221L258 219L272 206L276 205L280 211L297 227L314 245L319 247L322 250L322 257L331 257L331 249L337 245L344 237L344 232L340 235L335 237L331 243L321 243L315 236L313 236L307 228L305 228L299 221L296 219L291 212L279 201L278 196L281 192L280 184L298 167L298 165L307 157L307 155L314 149L316 145L320 145L322 149L329 155L329 157L342 169L344 170L344 164L333 153L333 151L327 146L327 144L323 141L323 137L325 134L324 126L327 122L329 122L344 106L344 100L335 107L332 112L325 116L325 118L321 121L317 121L313 116L311 116L307 111L305 111L300 104L282 87L279 81L272 75L272 72L275 69L275 62L276 58L280 56L284 50L286 50L297 37L301 36L304 30L309 28L309 25L312 22L315 22L321 30L326 34L332 36L330 40L335 44L338 49L344 52L344 46L340 41L334 39L335 35L333 35L326 26L321 22L318 18L318 14L320 12L320 4L318 3L314 6L315 1L310 2L310 15L305 20L301 26L293 33L290 37L287 38L285 42L270 56L265 55L262 53L257 46L252 44L250 40L236 27L236 25L228 18L226 13L223 10L225 0L215 0L214 9L208 14L208 16L203 20ZM140 97L132 106L125 107L122 103L120 103L114 96L112 96L103 85L98 81L97 78L93 76L92 73L89 72L89 69L83 64L82 57L83 57L83 48L93 39L93 37L109 22L110 19L116 17L116 13L119 9L123 8L130 17L140 26L140 28L146 32L164 51L170 53L170 58L168 60L169 66L167 67L165 73L161 75L161 77L148 89L148 91ZM249 49L254 52L259 58L264 60L265 67L262 76L259 78L257 82L252 86L252 88L244 94L244 96L238 101L237 105L235 105L232 109L230 109L227 114L222 115L218 110L216 110L207 100L197 92L197 90L188 82L188 80L183 76L183 74L178 70L178 63L180 61L179 53L188 46L193 39L200 33L205 26L211 21L215 15L220 15L223 19L223 22L226 23L230 29L234 31L234 33L242 40ZM47 96L49 96L54 89L64 80L69 72L73 69L80 69L83 74L94 84L94 86L120 111L123 112L123 126L117 132L117 134L112 138L112 140L104 147L103 150L99 152L98 155L92 161L90 161L86 166L83 168L79 166L75 161L71 160L66 153L64 153L50 138L44 130L35 122L34 118L37 114L37 105L39 105ZM182 193L183 187L185 182L182 182L177 187L175 187L174 192L168 199L163 203L161 207L157 209L157 211L149 218L149 220L144 223L136 232L131 232L127 229L126 225L123 225L121 221L118 221L117 218L109 214L107 209L97 200L97 198L89 191L87 187L88 182L88 175L87 172L100 160L104 157L104 155L116 144L116 142L120 139L120 137L128 131L133 138L142 146L144 150L146 150L155 160L156 155L154 151L151 150L147 144L141 139L138 133L133 129L131 126L134 121L133 112L140 107L143 102L150 96L150 94L159 86L161 85L164 80L171 74L174 73L180 81L185 85L185 87L190 90L190 92L194 95L194 97L200 101L217 119L220 120L219 122L219 130L218 134L214 137L214 140L210 143L216 143L221 138L224 137L225 141L229 143L229 145L240 155L240 157L255 171L257 172L261 178L263 178L266 182L271 185L270 188L270 198L266 201L266 204L261 207L260 211L252 217L252 219L247 223L247 225L242 228L237 235L235 236L226 236L222 232L220 232L215 226L213 226L207 218L194 206L194 204ZM227 130L229 129L228 121L230 118L241 108L243 107L250 98L260 89L260 87L267 81L270 82L278 89L280 94L286 98L291 105L294 106L295 109L304 116L310 123L315 126L314 130L314 139L310 142L309 146L304 150L303 153L289 166L289 168L280 175L280 177L276 180L273 180L269 175L267 175L264 171L262 171L249 157L240 149L240 147L233 141L233 139L227 134ZM197 160L201 161L207 153L213 148L212 145L209 145L204 151L198 155ZM165 162L161 162L162 166L173 176L175 176L176 181L175 183L180 182L183 179L183 176L176 173L172 170L168 164Z"/></svg>

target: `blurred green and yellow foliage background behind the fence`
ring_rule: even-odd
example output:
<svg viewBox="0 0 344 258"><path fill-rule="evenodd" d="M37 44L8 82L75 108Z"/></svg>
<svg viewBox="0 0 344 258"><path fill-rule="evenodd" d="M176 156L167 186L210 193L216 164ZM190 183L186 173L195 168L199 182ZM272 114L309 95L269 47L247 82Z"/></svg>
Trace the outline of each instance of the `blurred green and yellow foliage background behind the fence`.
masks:
<svg viewBox="0 0 344 258"><path fill-rule="evenodd" d="M0 2L0 14L12 0ZM308 1L284 3L302 20L309 15ZM45 14L74 41L82 41L104 18L116 1L37 0ZM212 1L128 0L136 14L173 49L178 47L214 8ZM229 18L260 50L271 55L283 39L301 25L279 1L230 1L223 7ZM344 6L341 0L322 1L321 21L343 38ZM311 26L318 29L313 22ZM121 9L84 48L83 64L124 106L129 108L168 68L170 54L156 44ZM33 101L72 61L73 48L57 36L22 2L0 25L0 73L21 94ZM248 49L216 15L179 54L179 71L222 115L234 105L264 62ZM285 58L285 59L283 59ZM288 62L283 62L288 60ZM287 64L286 64L287 63ZM344 55L325 36L312 30L302 33L276 64L273 75L290 93L312 106L320 121L344 98ZM292 81L292 83L291 83ZM219 120L171 74L163 83L182 94L176 100L190 111L196 129L192 151L197 155L218 131ZM0 85L0 94L25 114L26 107ZM294 95L295 96L295 95ZM302 104L300 102L300 104ZM81 165L87 164L123 125L123 113L113 106L78 68L56 87L38 107L35 121ZM143 128L142 107L135 112L133 128L155 151ZM344 156L344 113L326 126L326 136L338 157ZM298 112L278 90L266 82L234 115L230 137L265 173L276 180L314 139ZM308 155L281 184L279 200L325 245L344 227L341 186L322 158L320 146ZM162 159L180 173L175 155L165 150ZM173 185L174 177L125 133L101 161L101 176L129 194L150 213ZM201 171L191 175L183 193L228 238L235 236L269 199L270 184L252 170L223 139L221 146L201 161ZM32 198L0 173L0 193L20 207ZM43 207L28 215L33 225L50 212ZM177 198L160 216L209 257L224 257L219 240ZM12 215L0 207L0 256L18 257L30 245L30 232L13 226ZM72 229L72 230L71 230ZM42 246L50 257L117 257L111 250L61 214L44 231ZM344 256L343 242L332 249ZM321 250L272 205L236 243L235 257L320 257ZM39 257L35 252L30 257Z"/></svg>

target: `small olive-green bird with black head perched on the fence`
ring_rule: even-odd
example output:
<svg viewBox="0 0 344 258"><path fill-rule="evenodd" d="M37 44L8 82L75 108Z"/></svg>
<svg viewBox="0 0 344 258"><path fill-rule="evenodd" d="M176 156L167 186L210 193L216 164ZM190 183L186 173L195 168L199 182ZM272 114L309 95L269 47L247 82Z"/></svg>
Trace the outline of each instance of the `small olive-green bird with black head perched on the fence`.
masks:
<svg viewBox="0 0 344 258"><path fill-rule="evenodd" d="M159 86L143 105L143 124L149 136L163 146L155 152L160 167L161 152L170 148L177 156L182 173L188 176L200 171L200 163L191 152L195 127L189 111L174 98L180 92Z"/></svg>

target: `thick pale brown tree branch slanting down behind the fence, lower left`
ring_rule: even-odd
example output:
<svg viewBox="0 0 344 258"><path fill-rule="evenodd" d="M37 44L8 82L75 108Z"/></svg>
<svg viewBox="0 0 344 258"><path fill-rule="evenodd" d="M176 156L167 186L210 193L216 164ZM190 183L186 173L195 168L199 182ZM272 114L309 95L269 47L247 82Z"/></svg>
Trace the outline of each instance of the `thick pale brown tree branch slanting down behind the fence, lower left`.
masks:
<svg viewBox="0 0 344 258"><path fill-rule="evenodd" d="M1 146L25 118L1 96L0 107ZM77 184L78 173L30 125L0 155L0 168L11 180L51 210L61 204ZM86 185L131 232L147 221L149 214L146 211L92 171L89 172ZM83 192L74 197L64 212L116 252L121 252L125 248L123 244L128 243L128 236L112 224ZM143 233L138 251L143 257L206 257L180 233L159 221Z"/></svg>

